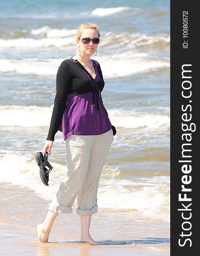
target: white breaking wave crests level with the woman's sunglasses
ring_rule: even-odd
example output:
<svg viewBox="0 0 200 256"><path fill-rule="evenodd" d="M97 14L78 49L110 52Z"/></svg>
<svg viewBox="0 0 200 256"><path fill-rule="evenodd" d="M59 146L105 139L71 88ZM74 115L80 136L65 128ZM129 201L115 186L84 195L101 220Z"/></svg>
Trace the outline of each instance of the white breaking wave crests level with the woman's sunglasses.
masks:
<svg viewBox="0 0 200 256"><path fill-rule="evenodd" d="M43 26L40 29L32 29L30 35L33 37L27 38L29 31L26 33L21 30L17 34L19 38L0 39L0 48L50 48L50 47L68 47L76 45L75 29L54 29L49 26ZM17 36L16 32L14 33ZM24 37L23 37L24 35ZM122 47L126 49L137 49L137 47L170 47L169 35L149 35L143 33L127 33L121 32L101 32L100 46L101 47L119 47L120 52Z"/></svg>

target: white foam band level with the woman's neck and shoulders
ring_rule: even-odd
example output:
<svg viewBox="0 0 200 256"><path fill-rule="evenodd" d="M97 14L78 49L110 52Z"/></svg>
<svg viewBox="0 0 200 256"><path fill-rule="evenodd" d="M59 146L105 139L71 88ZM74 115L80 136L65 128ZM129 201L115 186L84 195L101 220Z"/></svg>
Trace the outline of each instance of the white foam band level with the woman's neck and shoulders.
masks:
<svg viewBox="0 0 200 256"><path fill-rule="evenodd" d="M128 58L128 55L131 57ZM0 59L0 71L55 77L62 61L64 59ZM123 55L101 56L97 61L101 65L104 78L123 77L170 67L169 60L154 60L149 55L131 52Z"/></svg>

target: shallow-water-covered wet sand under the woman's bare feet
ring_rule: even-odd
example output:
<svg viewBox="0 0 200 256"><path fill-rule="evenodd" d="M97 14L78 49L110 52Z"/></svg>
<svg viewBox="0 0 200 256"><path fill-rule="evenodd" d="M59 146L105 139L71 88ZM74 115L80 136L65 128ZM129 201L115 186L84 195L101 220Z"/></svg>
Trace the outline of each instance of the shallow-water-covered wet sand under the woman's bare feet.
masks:
<svg viewBox="0 0 200 256"><path fill-rule="evenodd" d="M73 212L60 214L49 242L38 243L36 226L46 216L49 202L29 189L0 184L1 253L14 256L132 256L170 255L169 223L143 218L137 211L102 211L92 216L90 234L102 245L79 242L80 220Z"/></svg>

